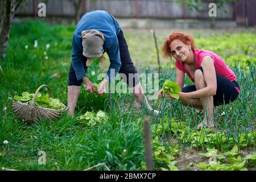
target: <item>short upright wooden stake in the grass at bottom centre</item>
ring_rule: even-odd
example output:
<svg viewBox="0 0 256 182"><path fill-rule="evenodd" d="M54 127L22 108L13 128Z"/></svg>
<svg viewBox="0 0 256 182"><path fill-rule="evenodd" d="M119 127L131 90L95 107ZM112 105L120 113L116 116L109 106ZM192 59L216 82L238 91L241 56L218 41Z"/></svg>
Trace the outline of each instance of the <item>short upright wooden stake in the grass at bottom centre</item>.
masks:
<svg viewBox="0 0 256 182"><path fill-rule="evenodd" d="M150 118L144 118L144 139L145 139L145 159L147 171L153 170L151 134L150 134Z"/></svg>

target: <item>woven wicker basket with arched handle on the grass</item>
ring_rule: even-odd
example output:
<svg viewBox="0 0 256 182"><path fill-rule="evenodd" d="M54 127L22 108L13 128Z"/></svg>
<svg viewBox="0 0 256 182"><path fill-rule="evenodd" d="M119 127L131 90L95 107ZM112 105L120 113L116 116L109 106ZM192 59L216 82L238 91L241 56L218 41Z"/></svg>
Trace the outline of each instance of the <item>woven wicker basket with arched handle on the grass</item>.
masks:
<svg viewBox="0 0 256 182"><path fill-rule="evenodd" d="M49 86L47 85L41 85L36 90L34 97L32 98L32 101L30 104L24 104L19 101L13 101L12 107L14 114L16 114L20 121L26 122L26 123L34 123L36 119L39 119L40 117L49 120L56 120L60 117L60 114L67 111L68 107L64 106L63 109L49 109L45 107L36 106L34 101L35 98L39 92L40 89L43 87L46 87L48 90L49 98L51 97L51 90L49 89Z"/></svg>

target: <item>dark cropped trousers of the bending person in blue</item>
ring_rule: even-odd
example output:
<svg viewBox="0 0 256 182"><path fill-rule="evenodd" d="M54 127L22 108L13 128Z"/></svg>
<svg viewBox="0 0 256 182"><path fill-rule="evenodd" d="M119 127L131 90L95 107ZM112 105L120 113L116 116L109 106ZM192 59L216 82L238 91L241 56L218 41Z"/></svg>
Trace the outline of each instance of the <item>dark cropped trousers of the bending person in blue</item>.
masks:
<svg viewBox="0 0 256 182"><path fill-rule="evenodd" d="M133 87L139 83L139 77L137 73L137 69L134 67L133 61L131 61L131 56L129 53L128 45L123 36L123 31L121 30L117 35L118 44L119 44L119 52L121 58L121 68L118 73L121 73L119 76L125 81L129 87ZM84 56L84 61L82 61L85 72L87 71L86 67L87 58ZM73 69L72 63L69 67L68 73L68 85L76 85L81 86L82 80L77 80L75 70Z"/></svg>

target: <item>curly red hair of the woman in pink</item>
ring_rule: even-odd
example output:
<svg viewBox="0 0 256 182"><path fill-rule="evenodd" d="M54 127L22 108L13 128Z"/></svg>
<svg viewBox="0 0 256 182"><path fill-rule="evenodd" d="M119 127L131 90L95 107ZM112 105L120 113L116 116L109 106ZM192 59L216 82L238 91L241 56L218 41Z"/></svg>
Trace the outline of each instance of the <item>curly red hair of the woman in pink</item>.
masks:
<svg viewBox="0 0 256 182"><path fill-rule="evenodd" d="M166 39L166 41L163 44L163 48L162 48L162 54L164 57L172 57L172 53L171 53L171 48L170 48L170 44L172 43L172 41L174 41L175 39L179 39L181 42L183 42L184 44L188 45L188 43L191 44L191 48L195 49L195 43L194 43L194 38L192 35L189 34L183 34L181 32L174 32L172 33L168 39Z"/></svg>

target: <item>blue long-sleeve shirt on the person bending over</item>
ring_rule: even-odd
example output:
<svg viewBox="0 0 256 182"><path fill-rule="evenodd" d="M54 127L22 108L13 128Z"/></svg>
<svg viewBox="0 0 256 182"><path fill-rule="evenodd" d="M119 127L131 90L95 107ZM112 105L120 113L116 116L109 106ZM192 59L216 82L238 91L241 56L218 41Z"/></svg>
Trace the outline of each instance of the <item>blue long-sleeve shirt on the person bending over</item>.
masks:
<svg viewBox="0 0 256 182"><path fill-rule="evenodd" d="M106 77L112 82L117 75L121 67L121 59L119 52L119 44L117 35L121 28L117 20L108 12L101 10L89 11L84 14L77 24L75 33L73 35L72 42L72 65L76 72L77 80L81 80L86 77L86 70L84 70L82 61L84 56L82 55L82 35L84 30L99 30L104 34L104 52L108 53L110 59L110 66ZM114 75L110 77L110 69L114 69Z"/></svg>

